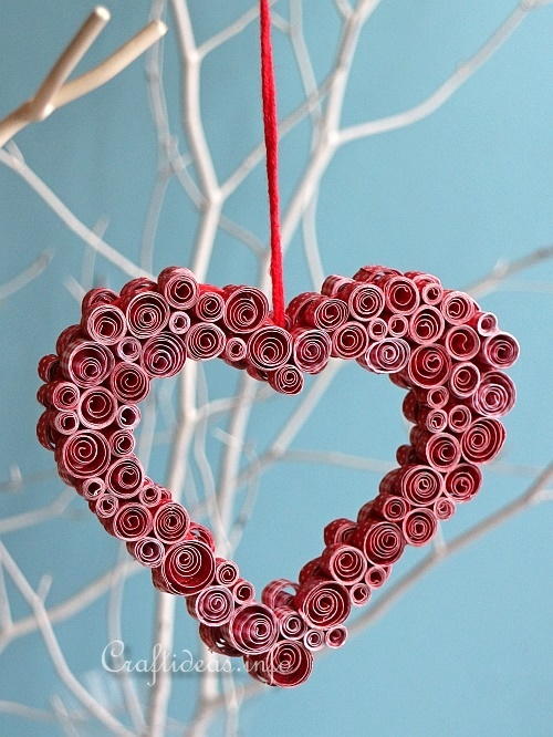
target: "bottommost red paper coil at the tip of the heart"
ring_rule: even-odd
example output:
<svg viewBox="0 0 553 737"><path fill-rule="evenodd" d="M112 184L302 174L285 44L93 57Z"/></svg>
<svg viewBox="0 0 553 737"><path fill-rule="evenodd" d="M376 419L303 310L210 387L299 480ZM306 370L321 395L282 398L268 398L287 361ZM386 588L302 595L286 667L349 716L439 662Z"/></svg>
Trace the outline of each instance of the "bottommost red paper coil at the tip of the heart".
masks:
<svg viewBox="0 0 553 737"><path fill-rule="evenodd" d="M313 655L295 640L281 640L264 655L249 655L246 665L249 674L258 681L269 686L291 688L310 677Z"/></svg>

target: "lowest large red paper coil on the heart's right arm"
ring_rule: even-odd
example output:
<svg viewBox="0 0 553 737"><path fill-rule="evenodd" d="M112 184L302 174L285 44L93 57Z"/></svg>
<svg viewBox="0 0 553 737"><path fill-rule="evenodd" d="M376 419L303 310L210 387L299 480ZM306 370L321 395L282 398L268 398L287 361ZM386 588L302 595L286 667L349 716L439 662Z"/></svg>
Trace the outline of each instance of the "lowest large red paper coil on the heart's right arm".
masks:
<svg viewBox="0 0 553 737"><path fill-rule="evenodd" d="M307 581L294 599L298 611L312 627L333 627L349 615L347 589L337 581Z"/></svg>

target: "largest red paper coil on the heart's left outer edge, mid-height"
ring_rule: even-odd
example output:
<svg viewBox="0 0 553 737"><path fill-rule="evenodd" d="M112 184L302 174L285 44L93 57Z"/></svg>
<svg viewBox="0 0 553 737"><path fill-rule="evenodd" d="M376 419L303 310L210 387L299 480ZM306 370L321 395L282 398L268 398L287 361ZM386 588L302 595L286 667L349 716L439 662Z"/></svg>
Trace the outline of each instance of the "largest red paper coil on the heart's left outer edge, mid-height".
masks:
<svg viewBox="0 0 553 737"><path fill-rule="evenodd" d="M75 479L102 476L109 465L109 445L98 430L77 430L56 445L55 460Z"/></svg>

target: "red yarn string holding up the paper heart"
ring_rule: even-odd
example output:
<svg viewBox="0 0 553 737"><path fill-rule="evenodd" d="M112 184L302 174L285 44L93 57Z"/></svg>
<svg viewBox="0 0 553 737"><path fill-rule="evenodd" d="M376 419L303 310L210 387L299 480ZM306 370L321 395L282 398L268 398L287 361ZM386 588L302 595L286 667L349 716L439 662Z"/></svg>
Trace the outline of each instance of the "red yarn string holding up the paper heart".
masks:
<svg viewBox="0 0 553 737"><path fill-rule="evenodd" d="M279 127L276 117L276 87L274 84L273 51L271 44L271 11L269 0L259 1L261 31L261 94L263 97L263 132L267 149L267 188L271 224L271 282L273 319L284 326L284 277L279 211Z"/></svg>

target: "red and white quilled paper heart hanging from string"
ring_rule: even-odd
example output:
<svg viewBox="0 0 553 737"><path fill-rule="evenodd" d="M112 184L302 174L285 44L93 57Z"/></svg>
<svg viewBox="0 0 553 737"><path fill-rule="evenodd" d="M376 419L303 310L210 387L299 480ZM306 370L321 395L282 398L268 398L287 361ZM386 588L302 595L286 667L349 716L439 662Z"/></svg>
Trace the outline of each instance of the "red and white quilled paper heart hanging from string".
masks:
<svg viewBox="0 0 553 737"><path fill-rule="evenodd" d="M320 293L291 301L282 328L260 290L200 284L169 267L157 282L85 295L81 323L40 361L38 437L107 532L152 569L154 585L185 596L212 651L243 657L264 683L296 686L314 651L345 642L352 608L385 583L405 546L426 544L438 521L479 490L480 465L505 439L498 417L515 388L503 369L518 353L493 314L427 273L368 266L353 279L328 277ZM331 356L355 360L407 390L403 411L414 424L378 495L355 520L330 522L321 556L296 582L268 583L261 601L134 455L152 380L216 356L283 394L301 392L304 374L324 371Z"/></svg>

